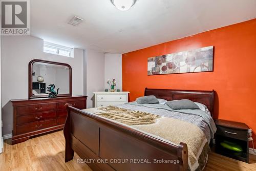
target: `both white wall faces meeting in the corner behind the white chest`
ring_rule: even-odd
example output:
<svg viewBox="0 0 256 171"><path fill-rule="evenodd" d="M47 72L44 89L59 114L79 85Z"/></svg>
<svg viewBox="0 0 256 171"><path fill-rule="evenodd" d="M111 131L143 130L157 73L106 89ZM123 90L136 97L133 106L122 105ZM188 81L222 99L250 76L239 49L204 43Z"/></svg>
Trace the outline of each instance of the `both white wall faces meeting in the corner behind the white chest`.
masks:
<svg viewBox="0 0 256 171"><path fill-rule="evenodd" d="M88 95L87 108L94 107L93 92L110 89L108 79L116 78L116 89L122 91L122 55L103 54L94 50L84 50L84 93Z"/></svg>

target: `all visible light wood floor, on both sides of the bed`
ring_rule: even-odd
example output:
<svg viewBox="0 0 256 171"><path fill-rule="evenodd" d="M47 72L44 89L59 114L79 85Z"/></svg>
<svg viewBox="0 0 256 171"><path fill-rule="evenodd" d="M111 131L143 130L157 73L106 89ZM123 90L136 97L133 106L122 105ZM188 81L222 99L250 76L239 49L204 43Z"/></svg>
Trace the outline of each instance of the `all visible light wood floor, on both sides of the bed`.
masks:
<svg viewBox="0 0 256 171"><path fill-rule="evenodd" d="M10 141L10 140L9 140ZM0 154L0 170L86 170L91 169L77 163L75 154L72 161L65 163L65 139L63 132L55 132L9 145L4 143L4 153ZM206 171L256 170L256 156L250 156L250 163L237 161L216 153L210 153Z"/></svg>

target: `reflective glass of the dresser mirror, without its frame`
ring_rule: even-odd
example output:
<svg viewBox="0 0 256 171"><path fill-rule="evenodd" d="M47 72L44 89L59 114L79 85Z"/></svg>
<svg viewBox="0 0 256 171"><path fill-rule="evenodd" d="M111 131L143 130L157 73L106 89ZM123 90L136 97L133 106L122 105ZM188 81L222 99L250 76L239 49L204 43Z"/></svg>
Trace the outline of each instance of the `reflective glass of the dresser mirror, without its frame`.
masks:
<svg viewBox="0 0 256 171"><path fill-rule="evenodd" d="M54 84L58 94L69 94L70 71L68 66L55 65L52 63L34 62L32 66L32 96L49 95L47 87Z"/></svg>

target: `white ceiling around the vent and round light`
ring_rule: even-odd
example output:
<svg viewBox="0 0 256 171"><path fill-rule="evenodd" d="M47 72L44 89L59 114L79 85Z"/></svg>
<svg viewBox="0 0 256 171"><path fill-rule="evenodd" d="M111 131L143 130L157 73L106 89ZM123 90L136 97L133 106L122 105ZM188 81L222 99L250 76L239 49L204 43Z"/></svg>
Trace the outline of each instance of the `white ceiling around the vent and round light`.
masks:
<svg viewBox="0 0 256 171"><path fill-rule="evenodd" d="M125 53L256 18L255 0L31 0L31 35L63 46ZM79 16L77 27L68 24Z"/></svg>

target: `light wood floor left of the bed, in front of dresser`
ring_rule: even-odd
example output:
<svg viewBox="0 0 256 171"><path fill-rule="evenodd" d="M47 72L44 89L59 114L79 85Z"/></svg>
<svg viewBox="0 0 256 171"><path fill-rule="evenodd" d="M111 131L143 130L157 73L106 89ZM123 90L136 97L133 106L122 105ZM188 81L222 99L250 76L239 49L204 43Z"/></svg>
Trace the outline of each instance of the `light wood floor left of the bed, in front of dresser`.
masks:
<svg viewBox="0 0 256 171"><path fill-rule="evenodd" d="M15 145L4 142L0 154L0 170L90 170L87 164L77 163L79 157L65 163L63 132L55 132L29 139Z"/></svg>

